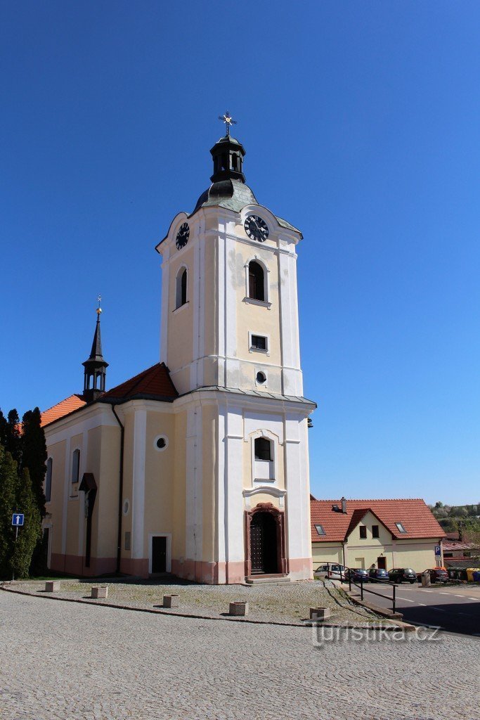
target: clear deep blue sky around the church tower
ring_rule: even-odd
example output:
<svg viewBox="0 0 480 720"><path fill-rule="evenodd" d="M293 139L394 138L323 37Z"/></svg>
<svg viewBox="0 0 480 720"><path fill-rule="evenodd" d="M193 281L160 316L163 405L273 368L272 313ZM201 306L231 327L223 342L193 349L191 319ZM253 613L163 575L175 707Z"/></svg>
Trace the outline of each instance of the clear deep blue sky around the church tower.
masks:
<svg viewBox="0 0 480 720"><path fill-rule="evenodd" d="M312 492L480 500L477 2L3 2L0 406L158 361L155 243L229 109L302 228Z"/></svg>

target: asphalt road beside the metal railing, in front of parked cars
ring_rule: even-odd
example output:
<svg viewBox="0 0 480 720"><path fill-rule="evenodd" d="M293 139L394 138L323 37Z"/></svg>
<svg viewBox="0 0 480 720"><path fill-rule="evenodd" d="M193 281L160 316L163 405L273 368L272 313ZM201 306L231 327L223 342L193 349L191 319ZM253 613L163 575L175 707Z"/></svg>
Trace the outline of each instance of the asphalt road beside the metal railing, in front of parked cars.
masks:
<svg viewBox="0 0 480 720"><path fill-rule="evenodd" d="M345 587L345 586L344 586ZM379 587L368 583L366 589L378 595L364 593L364 600L391 609L391 586ZM409 585L402 582L397 588L397 611L404 621L415 625L433 625L443 630L480 637L480 586L479 585Z"/></svg>

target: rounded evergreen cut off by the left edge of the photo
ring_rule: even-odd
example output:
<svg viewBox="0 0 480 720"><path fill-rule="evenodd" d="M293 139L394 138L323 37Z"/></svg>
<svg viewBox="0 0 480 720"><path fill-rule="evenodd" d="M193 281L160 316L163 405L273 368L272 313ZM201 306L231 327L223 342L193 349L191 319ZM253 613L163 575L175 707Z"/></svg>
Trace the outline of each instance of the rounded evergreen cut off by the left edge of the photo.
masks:
<svg viewBox="0 0 480 720"><path fill-rule="evenodd" d="M12 513L17 492L17 463L0 445L0 577L11 577L11 564L15 531Z"/></svg>

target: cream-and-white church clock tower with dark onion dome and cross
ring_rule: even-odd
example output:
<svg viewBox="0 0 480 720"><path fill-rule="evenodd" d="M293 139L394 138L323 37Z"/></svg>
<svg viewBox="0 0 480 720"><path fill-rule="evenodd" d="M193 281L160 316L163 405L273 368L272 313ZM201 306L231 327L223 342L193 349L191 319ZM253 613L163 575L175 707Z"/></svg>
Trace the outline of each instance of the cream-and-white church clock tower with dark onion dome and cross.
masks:
<svg viewBox="0 0 480 720"><path fill-rule="evenodd" d="M302 233L258 203L232 118L223 120L212 184L156 248L160 360L186 433L186 544L172 571L204 582L304 579L312 577L307 420L315 405L303 397L299 354Z"/></svg>

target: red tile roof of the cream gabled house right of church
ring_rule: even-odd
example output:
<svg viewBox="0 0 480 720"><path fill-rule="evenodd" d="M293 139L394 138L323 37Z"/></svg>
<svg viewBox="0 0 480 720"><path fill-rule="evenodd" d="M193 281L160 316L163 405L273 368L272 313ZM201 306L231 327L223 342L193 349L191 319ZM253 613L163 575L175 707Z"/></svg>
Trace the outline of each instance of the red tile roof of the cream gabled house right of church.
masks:
<svg viewBox="0 0 480 720"><path fill-rule="evenodd" d="M333 510L333 505L340 510ZM347 500L347 512L342 513L341 508L341 500L310 500L312 542L345 540L367 510L379 518L395 539L445 536L424 500ZM399 532L395 523L402 523L407 532ZM325 535L320 536L315 525L322 525Z"/></svg>

